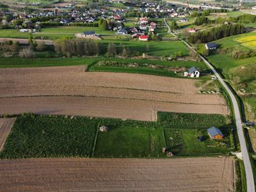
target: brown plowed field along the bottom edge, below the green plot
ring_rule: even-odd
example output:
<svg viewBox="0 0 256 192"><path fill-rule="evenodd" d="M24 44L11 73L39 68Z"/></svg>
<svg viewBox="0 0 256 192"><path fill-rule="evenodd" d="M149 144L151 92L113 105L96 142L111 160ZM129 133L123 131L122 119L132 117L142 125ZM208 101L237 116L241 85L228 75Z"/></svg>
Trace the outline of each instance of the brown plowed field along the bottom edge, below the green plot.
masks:
<svg viewBox="0 0 256 192"><path fill-rule="evenodd" d="M234 191L234 160L0 161L0 191Z"/></svg>

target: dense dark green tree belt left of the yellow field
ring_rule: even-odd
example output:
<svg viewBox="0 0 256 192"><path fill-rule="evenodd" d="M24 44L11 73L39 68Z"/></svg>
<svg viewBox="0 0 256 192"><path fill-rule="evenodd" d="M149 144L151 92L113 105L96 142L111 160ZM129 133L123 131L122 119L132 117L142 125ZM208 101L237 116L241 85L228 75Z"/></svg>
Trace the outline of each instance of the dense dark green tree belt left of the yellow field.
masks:
<svg viewBox="0 0 256 192"><path fill-rule="evenodd" d="M206 43L243 32L245 32L245 28L241 24L221 25L217 28L212 28L211 30L190 34L188 41L192 44Z"/></svg>

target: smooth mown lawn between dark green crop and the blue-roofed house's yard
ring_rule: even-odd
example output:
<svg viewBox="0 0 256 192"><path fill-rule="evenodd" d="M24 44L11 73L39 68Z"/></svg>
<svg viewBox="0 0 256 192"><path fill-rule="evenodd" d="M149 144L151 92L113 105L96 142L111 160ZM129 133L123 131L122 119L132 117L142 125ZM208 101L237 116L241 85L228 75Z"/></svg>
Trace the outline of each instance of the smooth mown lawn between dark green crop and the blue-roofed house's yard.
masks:
<svg viewBox="0 0 256 192"><path fill-rule="evenodd" d="M122 126L98 133L95 157L158 157L164 147L162 128Z"/></svg>

